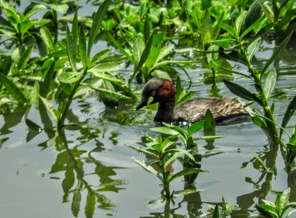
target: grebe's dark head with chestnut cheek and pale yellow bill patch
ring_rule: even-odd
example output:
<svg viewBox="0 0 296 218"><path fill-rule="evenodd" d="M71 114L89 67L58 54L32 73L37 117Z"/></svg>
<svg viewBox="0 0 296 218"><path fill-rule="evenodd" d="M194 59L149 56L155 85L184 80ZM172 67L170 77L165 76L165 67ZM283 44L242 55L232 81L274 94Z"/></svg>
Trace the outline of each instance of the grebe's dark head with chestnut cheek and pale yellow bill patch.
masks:
<svg viewBox="0 0 296 218"><path fill-rule="evenodd" d="M148 104L175 101L175 88L172 82L163 78L152 78L144 86L139 110Z"/></svg>

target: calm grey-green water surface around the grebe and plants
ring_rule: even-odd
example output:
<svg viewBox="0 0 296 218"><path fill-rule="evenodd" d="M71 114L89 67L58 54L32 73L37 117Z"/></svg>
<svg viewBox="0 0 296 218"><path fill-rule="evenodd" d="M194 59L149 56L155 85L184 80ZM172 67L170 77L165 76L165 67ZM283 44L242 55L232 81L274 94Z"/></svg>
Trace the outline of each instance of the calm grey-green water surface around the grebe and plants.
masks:
<svg viewBox="0 0 296 218"><path fill-rule="evenodd" d="M264 42L263 46L273 48L274 43ZM293 44L295 41L291 42ZM102 46L106 46L104 42L98 44L100 49ZM255 64L258 68L271 55L271 49L257 52ZM296 95L295 60L296 50L292 46L275 62L278 73L275 92L287 92L274 99L278 123L281 123L289 101ZM200 68L202 64L189 69L193 80L190 90L196 91L194 96L213 96L212 85L199 82L204 76L204 72L198 70ZM242 66L239 69L246 71ZM127 72L130 71L127 69L121 73ZM181 78L184 86L189 84L182 73ZM252 88L245 78L235 80L246 88ZM142 85L134 84L134 87L141 90ZM219 95L235 97L223 83L217 83L217 88ZM85 122L96 129L78 130L73 127L65 130L64 144L67 146L62 147L55 146L57 132L52 129L54 121L44 109L20 106L11 113L1 115L1 217L63 218L74 217L73 211L78 217L85 217L90 204L95 204L93 217L198 217L208 213L209 205L221 202L222 196L228 205L237 206L237 210L228 217L257 217L253 213L255 204L261 199L274 202L277 192L286 190L288 186L291 188L290 201L296 201L296 174L285 172L283 151L277 146L270 146L263 131L247 122L218 126L216 135L230 136L212 143L199 142L201 154L224 152L202 159L201 168L208 172L200 173L191 187L200 192L176 196L175 204L171 203L169 208L165 207L165 202L149 204L150 201L162 200L160 181L131 159L144 160L145 156L123 143L139 147L142 132L157 137L149 129L154 127L155 111L136 112L135 105L136 102L120 102L114 109L106 108L95 95L76 99L68 119ZM259 109L259 106L254 105L254 108ZM42 131L29 130L25 118L38 124ZM290 133L295 122L294 116L289 123ZM202 135L202 131L196 134ZM266 173L255 161L252 152L257 153L268 167L276 168L276 173ZM179 163L173 163L171 167L175 172L182 169ZM70 191L66 191L68 195L65 195L69 186ZM174 180L170 189L184 189L183 178ZM89 199L94 199L88 196L89 190L96 191L95 202L89 202ZM80 201L77 200L79 198Z"/></svg>

